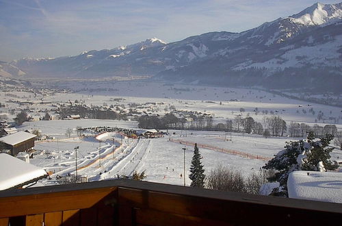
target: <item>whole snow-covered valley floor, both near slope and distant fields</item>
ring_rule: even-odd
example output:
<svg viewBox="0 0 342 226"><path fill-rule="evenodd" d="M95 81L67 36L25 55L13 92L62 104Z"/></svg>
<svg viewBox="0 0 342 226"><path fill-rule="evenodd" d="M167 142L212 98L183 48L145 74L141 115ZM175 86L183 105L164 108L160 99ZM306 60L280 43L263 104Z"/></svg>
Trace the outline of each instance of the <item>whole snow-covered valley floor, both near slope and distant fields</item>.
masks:
<svg viewBox="0 0 342 226"><path fill-rule="evenodd" d="M51 108L51 103L38 103L49 101L52 103L83 101L87 105L115 105L130 103L155 102L159 105L150 105L150 109L156 114L165 114L164 108L174 106L177 110L194 110L211 113L215 123L224 122L227 118L235 118L238 114L243 117L250 114L256 121L262 121L261 112L278 114L287 123L298 122L313 125L317 118L317 112L323 112L327 118L339 118L337 128L342 129L342 109L327 105L319 105L287 99L273 95L262 90L249 90L243 88L222 88L209 86L185 86L172 85L158 82L143 81L68 81L68 83L56 82L59 88L70 88L75 93L53 93L34 97L29 92L0 92L0 101L5 103L8 99L37 101L27 106L31 114L44 114L45 109ZM12 95L8 95L12 94ZM122 100L116 100L122 99ZM220 104L220 102L222 104ZM15 108L18 112L20 106L16 103L5 103L6 108ZM4 114L6 108L1 109ZM244 108L244 112L240 109ZM256 114L254 110L258 109ZM311 114L313 108L316 114ZM41 112L39 112L41 110ZM304 110L304 111L303 111ZM304 113L306 112L306 113ZM8 114L11 117L13 115ZM332 120L324 123L332 123ZM324 126L323 122L318 124ZM298 140L298 138L263 138L254 134L225 134L215 131L187 131L187 136L181 131L171 131L171 136L156 139L122 139L116 133L107 134L105 138L96 140L97 134L86 133L85 138L78 138L76 127L110 126L136 129L136 121L113 121L113 120L68 120L68 121L31 121L25 122L18 130L40 129L42 134L54 138L52 141L36 142L36 154L31 163L40 166L53 173L52 180L43 181L43 184L55 184L57 175L75 174L75 147L77 149L77 165L79 175L87 175L90 181L98 179L115 178L118 175L132 175L134 171L146 172L146 180L167 184L183 184L183 147L170 139L187 142L198 142L202 145L231 149L251 155L259 155L272 158L282 150L285 142ZM71 137L66 136L66 129L73 129ZM113 143L114 138L114 143ZM114 146L113 146L114 145ZM192 158L192 146L187 146L185 151L185 179L186 184L190 181L189 166ZM115 151L114 151L115 149ZM334 151L332 158L342 158ZM259 171L265 164L265 160L241 157L231 153L223 153L212 149L200 148L203 156L202 162L208 174L216 166L228 166L238 169L244 175ZM101 164L100 164L101 155Z"/></svg>

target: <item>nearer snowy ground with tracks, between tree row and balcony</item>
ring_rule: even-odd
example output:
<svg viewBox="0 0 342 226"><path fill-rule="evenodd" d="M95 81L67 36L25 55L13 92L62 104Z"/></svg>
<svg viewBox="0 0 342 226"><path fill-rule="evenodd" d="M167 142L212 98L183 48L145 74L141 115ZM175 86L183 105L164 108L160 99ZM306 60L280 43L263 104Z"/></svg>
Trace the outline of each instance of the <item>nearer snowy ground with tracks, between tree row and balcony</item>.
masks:
<svg viewBox="0 0 342 226"><path fill-rule="evenodd" d="M272 157L285 146L285 141L289 138L263 138L261 136L245 134L225 134L215 131L187 131L187 135L181 131L170 131L171 136L155 139L127 139L121 140L118 133L108 133L101 135L101 143L95 138L96 134L88 134L88 138L79 139L76 134L72 138L66 138L65 128L74 129L77 126L89 127L94 125L112 125L118 127L135 128L136 122L124 121L101 121L81 119L66 121L66 125L61 126L64 121L37 121L24 123L21 129L39 128L43 134L57 137L53 141L36 142L36 154L31 163L40 166L47 171L51 171L52 180L43 181L43 184L55 184L57 175L75 174L75 147L77 149L78 174L87 175L90 181L99 179L115 178L118 175L132 175L134 171L141 173L146 171L146 180L166 184L183 185L183 147L170 139L181 139L199 144L213 145L236 151L243 151L253 155ZM113 153L114 138L114 153ZM228 140L228 141L225 141ZM295 139L294 139L295 140ZM121 142L123 145L121 146ZM193 147L186 146L185 169L186 184L190 181L189 166L191 164ZM211 149L200 148L202 163L208 174L216 166L228 166L238 169L244 175L259 171L265 161L244 158L239 155L222 153ZM101 155L101 166L99 156ZM341 151L334 151L333 158L342 158ZM181 177L182 174L182 177Z"/></svg>

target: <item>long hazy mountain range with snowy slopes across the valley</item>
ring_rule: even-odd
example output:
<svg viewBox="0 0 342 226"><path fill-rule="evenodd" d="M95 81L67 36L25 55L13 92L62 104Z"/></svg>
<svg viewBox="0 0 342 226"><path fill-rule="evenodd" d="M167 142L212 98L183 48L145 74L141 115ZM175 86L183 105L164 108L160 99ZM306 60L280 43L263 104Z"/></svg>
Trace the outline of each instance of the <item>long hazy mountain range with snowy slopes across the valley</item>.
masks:
<svg viewBox="0 0 342 226"><path fill-rule="evenodd" d="M316 3L246 32L211 32L179 42L157 38L80 55L12 62L28 75L156 79L230 86L342 84L342 3ZM338 82L337 82L338 81Z"/></svg>

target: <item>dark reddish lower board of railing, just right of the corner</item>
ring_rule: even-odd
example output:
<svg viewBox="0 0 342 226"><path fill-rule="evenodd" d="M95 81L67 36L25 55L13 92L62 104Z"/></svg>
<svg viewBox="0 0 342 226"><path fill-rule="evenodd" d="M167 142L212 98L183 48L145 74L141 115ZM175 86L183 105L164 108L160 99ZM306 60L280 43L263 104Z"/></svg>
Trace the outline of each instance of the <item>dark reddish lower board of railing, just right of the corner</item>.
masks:
<svg viewBox="0 0 342 226"><path fill-rule="evenodd" d="M134 209L135 223L142 225L231 225L224 221L214 221L196 216L172 214L147 209Z"/></svg>

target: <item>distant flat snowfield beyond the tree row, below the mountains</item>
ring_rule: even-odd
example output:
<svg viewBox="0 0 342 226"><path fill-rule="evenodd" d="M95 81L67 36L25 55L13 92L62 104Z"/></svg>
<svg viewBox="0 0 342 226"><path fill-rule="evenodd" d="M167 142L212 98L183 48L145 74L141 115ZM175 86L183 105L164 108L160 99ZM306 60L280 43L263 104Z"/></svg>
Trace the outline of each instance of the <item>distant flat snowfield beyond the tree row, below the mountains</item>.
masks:
<svg viewBox="0 0 342 226"><path fill-rule="evenodd" d="M342 129L342 108L308 103L306 101L289 99L273 95L263 90L246 88L224 88L211 86L189 86L180 84L166 84L163 82L146 81L91 81L68 83L54 83L61 88L70 88L75 93L55 93L45 97L44 101L75 101L83 100L87 105L107 105L129 103L155 102L163 103L154 108L155 113L166 113L166 106L174 105L177 110L192 110L207 112L215 115L215 121L224 118L235 118L237 114L250 114L257 121L263 116L278 114L285 121L314 124L317 114L323 112L326 121L317 123L335 123L328 118L337 118L337 124ZM114 99L123 98L123 101ZM234 100L234 101L233 101ZM220 102L222 105L220 105ZM244 108L244 112L240 109ZM254 112L257 108L258 114ZM313 108L315 114L309 112ZM262 114L267 111L268 114ZM305 112L305 113L304 113Z"/></svg>

